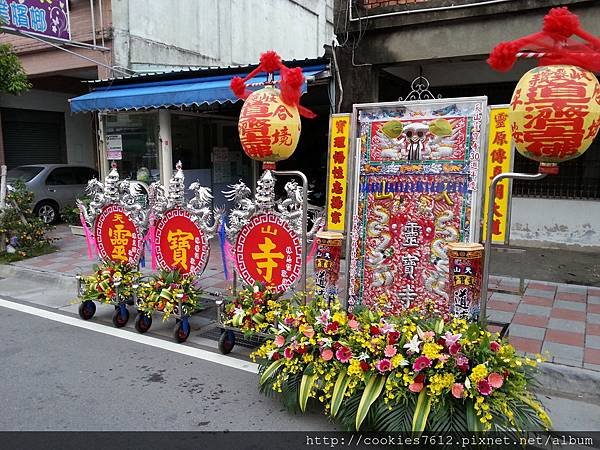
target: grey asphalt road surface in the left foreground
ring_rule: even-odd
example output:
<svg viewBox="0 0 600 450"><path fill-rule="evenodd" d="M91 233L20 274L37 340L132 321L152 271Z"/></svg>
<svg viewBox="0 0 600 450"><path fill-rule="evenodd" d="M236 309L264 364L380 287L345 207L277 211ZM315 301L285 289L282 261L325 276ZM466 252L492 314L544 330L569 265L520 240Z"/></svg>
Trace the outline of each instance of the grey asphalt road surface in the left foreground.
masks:
<svg viewBox="0 0 600 450"><path fill-rule="evenodd" d="M0 431L335 429L287 413L254 373L13 309L0 342Z"/></svg>

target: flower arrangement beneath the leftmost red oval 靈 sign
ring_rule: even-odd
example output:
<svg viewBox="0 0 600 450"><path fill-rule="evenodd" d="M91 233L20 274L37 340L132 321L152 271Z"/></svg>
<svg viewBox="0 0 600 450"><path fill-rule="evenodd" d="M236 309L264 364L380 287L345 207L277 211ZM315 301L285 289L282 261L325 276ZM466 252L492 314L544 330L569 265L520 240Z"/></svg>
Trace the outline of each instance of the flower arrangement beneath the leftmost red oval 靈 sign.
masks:
<svg viewBox="0 0 600 450"><path fill-rule="evenodd" d="M94 300L100 303L113 303L117 294L129 298L133 295L133 285L141 273L128 264L108 262L94 265L94 273L81 278L81 301Z"/></svg>

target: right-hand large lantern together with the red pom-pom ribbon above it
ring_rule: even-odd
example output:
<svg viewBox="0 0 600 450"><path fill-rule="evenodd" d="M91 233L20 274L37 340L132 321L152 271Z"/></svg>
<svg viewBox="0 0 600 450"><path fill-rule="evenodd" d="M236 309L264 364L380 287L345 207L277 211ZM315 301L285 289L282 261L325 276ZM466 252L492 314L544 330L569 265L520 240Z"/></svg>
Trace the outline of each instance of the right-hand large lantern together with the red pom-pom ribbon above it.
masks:
<svg viewBox="0 0 600 450"><path fill-rule="evenodd" d="M600 85L592 73L600 72L600 38L566 7L552 8L542 31L498 44L488 63L505 72L519 56L539 58L540 67L521 78L512 97L515 146L540 162L541 173L558 173L556 164L582 155L600 128Z"/></svg>

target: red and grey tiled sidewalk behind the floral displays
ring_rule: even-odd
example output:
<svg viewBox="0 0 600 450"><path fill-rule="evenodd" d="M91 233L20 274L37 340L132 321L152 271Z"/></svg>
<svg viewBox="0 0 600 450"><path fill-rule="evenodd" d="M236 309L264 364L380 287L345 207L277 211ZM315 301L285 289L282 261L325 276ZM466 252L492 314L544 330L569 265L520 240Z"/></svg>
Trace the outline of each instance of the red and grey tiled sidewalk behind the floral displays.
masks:
<svg viewBox="0 0 600 450"><path fill-rule="evenodd" d="M59 238L58 252L14 265L64 275L91 270L94 261L88 260L83 237L73 236L65 225L59 225L53 236ZM143 271L151 272L149 262ZM217 240L211 242L208 266L200 279L213 293L225 293L230 286ZM511 343L522 352L547 352L552 362L600 371L600 288L526 280L521 296L518 286L515 278L490 277L490 320L511 324Z"/></svg>

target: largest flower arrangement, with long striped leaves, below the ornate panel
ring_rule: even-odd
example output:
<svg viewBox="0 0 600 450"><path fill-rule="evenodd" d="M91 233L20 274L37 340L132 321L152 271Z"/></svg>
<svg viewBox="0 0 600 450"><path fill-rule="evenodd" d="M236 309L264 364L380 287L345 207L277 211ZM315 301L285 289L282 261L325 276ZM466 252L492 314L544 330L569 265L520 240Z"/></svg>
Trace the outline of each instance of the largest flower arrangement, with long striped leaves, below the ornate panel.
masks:
<svg viewBox="0 0 600 450"><path fill-rule="evenodd" d="M433 308L435 309L435 308ZM536 360L477 323L408 310L346 313L317 298L282 317L258 360L262 392L304 411L309 398L347 430L549 429L529 390Z"/></svg>

